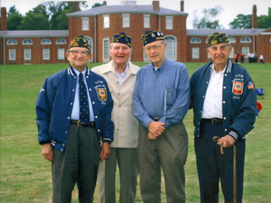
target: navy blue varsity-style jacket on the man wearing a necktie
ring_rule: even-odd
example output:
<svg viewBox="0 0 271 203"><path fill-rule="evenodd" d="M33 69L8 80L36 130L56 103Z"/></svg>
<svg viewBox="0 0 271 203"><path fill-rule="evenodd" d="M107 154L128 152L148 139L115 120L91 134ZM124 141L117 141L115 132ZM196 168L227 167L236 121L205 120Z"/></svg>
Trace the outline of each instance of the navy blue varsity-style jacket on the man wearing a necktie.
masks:
<svg viewBox="0 0 271 203"><path fill-rule="evenodd" d="M87 68L88 69L88 68ZM96 73L86 72L86 81L97 128L98 140L111 143L114 123L111 121L113 100L106 80ZM71 67L46 78L36 100L38 140L40 144L51 143L56 150L64 151L70 128L70 115L75 96L77 75ZM106 97L98 90L104 89Z"/></svg>

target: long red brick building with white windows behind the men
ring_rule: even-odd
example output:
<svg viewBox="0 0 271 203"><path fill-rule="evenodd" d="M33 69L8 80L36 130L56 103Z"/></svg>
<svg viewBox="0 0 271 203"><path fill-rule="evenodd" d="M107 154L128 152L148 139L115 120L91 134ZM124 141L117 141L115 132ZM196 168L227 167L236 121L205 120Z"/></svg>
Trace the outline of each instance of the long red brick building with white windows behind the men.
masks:
<svg viewBox="0 0 271 203"><path fill-rule="evenodd" d="M135 1L121 1L121 5L107 5L68 14L69 30L6 31L6 9L1 8L0 64L67 63L65 52L70 40L84 34L93 56L90 62L107 63L111 37L125 32L132 37L132 62L145 62L141 35L147 30L161 30L167 42L166 57L178 62L208 62L207 36L226 32L234 53L263 53L265 62L271 63L271 28L257 29L257 7L253 6L252 29L213 30L186 29L187 13L153 5L136 5Z"/></svg>

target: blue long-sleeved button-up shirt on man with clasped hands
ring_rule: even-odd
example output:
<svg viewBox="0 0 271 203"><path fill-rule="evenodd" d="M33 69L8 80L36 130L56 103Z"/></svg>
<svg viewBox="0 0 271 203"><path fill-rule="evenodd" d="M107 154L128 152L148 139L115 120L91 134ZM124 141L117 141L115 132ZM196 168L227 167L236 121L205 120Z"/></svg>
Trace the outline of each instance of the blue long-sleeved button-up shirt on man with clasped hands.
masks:
<svg viewBox="0 0 271 203"><path fill-rule="evenodd" d="M149 63L137 72L134 110L135 117L145 128L154 121L152 118L160 118L165 128L181 122L189 104L189 74L183 63L165 58L157 71L153 63Z"/></svg>

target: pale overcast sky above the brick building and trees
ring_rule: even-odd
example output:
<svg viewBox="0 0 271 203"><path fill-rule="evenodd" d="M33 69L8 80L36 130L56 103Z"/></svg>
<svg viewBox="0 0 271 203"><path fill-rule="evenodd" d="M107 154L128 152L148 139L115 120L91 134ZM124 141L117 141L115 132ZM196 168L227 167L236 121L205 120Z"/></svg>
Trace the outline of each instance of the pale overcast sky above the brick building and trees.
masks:
<svg viewBox="0 0 271 203"><path fill-rule="evenodd" d="M54 2L57 2L53 0ZM8 12L12 5L15 5L20 14L25 14L33 7L41 4L42 0L0 0L1 7L6 7ZM103 0L87 0L90 9L95 3L102 4ZM160 0L160 7L181 10L181 0ZM107 0L107 5L120 5L121 0ZM152 5L153 0L136 0L136 5ZM214 8L220 5L224 11L220 13L220 24L225 29L229 29L229 23L232 22L238 14L252 14L253 5L257 5L257 16L261 14L268 15L268 7L271 7L270 0L184 0L184 12L188 13L187 29L192 29L192 19L194 12L197 16L202 17L204 8Z"/></svg>

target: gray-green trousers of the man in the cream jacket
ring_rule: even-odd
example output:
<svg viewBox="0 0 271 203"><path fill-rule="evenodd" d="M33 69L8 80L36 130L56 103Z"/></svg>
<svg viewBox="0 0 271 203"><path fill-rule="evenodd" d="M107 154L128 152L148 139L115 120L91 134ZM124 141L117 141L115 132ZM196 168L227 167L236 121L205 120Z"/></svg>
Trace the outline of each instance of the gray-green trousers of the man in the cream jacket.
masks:
<svg viewBox="0 0 271 203"><path fill-rule="evenodd" d="M120 203L134 203L138 176L138 150L111 148L107 160L98 167L98 202L116 202L116 169L119 169Z"/></svg>

